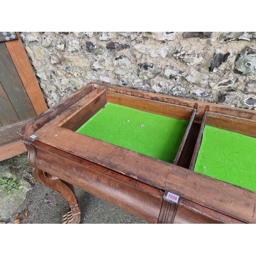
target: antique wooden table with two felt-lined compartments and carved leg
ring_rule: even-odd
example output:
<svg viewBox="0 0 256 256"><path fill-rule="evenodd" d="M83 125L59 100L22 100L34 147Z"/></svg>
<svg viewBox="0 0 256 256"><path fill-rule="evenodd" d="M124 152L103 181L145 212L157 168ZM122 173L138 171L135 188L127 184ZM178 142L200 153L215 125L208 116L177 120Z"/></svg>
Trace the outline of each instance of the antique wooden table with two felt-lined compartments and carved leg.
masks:
<svg viewBox="0 0 256 256"><path fill-rule="evenodd" d="M77 133L106 102L187 120L174 163ZM193 171L204 124L256 137L255 120L250 110L90 83L19 134L35 178L70 204L63 223L80 222L73 185L151 223L256 223L254 191Z"/></svg>

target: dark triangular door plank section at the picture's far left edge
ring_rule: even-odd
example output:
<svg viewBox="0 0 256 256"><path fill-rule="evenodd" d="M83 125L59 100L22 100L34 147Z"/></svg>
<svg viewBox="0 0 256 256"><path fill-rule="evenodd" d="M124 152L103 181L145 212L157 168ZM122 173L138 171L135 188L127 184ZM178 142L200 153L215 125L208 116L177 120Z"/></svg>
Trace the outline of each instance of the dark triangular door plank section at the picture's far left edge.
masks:
<svg viewBox="0 0 256 256"><path fill-rule="evenodd" d="M1 82L0 82L0 106L1 106L0 122L2 126L6 126L6 125L20 121Z"/></svg>

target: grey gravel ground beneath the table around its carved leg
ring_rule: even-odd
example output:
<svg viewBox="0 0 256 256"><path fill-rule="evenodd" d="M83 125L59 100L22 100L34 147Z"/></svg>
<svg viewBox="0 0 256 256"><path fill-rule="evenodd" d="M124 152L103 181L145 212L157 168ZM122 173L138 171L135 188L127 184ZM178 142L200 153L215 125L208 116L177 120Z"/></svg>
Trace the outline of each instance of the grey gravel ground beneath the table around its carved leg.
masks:
<svg viewBox="0 0 256 256"><path fill-rule="evenodd" d="M1 174L3 177L6 173L10 173L10 177L19 184L24 182L30 186L27 186L28 191L23 199L19 196L25 186L21 191L15 190L11 196L8 196L3 191L3 187L0 186L2 189L0 195L7 200L2 200L1 203L0 222L14 223L20 221L24 224L57 224L62 222L62 215L70 210L68 202L57 191L41 185L35 180L32 175L32 168L27 161L27 153L0 162L0 178ZM75 192L81 209L81 223L147 223L77 187L75 187ZM1 215L3 209L7 211L4 218Z"/></svg>

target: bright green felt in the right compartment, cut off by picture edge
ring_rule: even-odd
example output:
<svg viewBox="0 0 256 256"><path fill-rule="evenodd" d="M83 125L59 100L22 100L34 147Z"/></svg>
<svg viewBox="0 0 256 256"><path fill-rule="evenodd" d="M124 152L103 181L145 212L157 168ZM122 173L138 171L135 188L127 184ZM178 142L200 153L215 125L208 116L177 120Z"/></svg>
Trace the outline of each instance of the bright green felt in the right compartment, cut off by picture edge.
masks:
<svg viewBox="0 0 256 256"><path fill-rule="evenodd" d="M194 170L256 191L256 139L205 125Z"/></svg>

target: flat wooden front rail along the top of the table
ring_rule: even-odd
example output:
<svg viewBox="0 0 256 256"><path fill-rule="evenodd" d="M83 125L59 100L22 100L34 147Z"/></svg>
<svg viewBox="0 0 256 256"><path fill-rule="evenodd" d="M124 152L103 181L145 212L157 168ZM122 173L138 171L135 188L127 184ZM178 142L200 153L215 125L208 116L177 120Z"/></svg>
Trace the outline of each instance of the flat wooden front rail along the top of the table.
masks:
<svg viewBox="0 0 256 256"><path fill-rule="evenodd" d="M256 222L254 214L256 193L253 191L226 182L213 181L213 178L191 172L191 170L131 152L89 136L63 130L58 126L46 130L45 133L43 130L40 133L34 133L38 141L109 167L159 189L173 191L181 197L218 209L233 218L240 218L249 223ZM69 138L68 143L65 138ZM161 172L156 172L158 169ZM241 197L244 198L243 201Z"/></svg>

